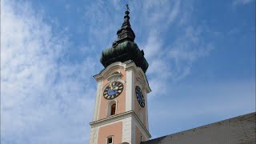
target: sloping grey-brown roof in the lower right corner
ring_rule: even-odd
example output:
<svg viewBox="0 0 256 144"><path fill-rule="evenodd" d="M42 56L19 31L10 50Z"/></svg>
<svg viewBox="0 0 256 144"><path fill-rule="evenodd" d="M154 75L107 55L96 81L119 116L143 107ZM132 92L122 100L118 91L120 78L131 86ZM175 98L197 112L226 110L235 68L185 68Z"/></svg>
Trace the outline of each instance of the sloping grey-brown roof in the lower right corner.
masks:
<svg viewBox="0 0 256 144"><path fill-rule="evenodd" d="M142 144L256 143L256 113L214 122L191 130L155 138Z"/></svg>

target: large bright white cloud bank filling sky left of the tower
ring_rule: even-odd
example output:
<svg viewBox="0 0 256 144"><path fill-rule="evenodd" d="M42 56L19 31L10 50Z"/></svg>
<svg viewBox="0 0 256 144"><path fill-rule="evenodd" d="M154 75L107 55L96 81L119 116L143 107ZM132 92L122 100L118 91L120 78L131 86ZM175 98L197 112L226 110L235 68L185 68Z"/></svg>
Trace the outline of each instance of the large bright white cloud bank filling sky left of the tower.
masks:
<svg viewBox="0 0 256 144"><path fill-rule="evenodd" d="M1 4L1 142L87 142L95 62L65 62L68 38L54 35L30 3Z"/></svg>

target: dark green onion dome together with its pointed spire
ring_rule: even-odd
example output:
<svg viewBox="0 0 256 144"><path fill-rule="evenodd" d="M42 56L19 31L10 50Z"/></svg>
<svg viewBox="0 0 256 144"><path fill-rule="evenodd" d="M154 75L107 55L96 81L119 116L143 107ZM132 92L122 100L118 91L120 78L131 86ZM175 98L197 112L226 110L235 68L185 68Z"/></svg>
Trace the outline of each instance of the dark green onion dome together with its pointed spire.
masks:
<svg viewBox="0 0 256 144"><path fill-rule="evenodd" d="M146 58L144 58L143 50L140 50L134 42L135 34L130 26L130 12L128 10L129 9L126 10L122 27L117 32L118 40L114 41L110 48L102 51L100 61L106 68L114 62L126 62L132 60L136 66L141 67L144 73L146 73L149 64L146 62Z"/></svg>

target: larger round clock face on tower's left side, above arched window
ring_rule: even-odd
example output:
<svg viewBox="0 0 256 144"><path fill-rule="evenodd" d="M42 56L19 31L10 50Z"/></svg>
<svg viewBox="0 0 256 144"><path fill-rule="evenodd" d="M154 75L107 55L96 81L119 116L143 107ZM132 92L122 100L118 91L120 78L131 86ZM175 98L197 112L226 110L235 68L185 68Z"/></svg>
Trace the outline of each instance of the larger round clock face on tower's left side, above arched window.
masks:
<svg viewBox="0 0 256 144"><path fill-rule="evenodd" d="M103 97L106 99L117 98L122 93L123 85L122 82L110 82L103 91Z"/></svg>

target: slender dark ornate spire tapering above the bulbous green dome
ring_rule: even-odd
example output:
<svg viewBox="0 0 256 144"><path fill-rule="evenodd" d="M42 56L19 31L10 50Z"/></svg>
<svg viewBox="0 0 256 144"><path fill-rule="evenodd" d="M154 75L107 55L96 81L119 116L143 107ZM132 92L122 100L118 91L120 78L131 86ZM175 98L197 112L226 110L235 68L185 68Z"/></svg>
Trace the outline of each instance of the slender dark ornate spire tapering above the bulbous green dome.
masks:
<svg viewBox="0 0 256 144"><path fill-rule="evenodd" d="M124 41L130 41L130 42L134 42L135 39L135 34L134 34L134 30L131 29L130 27L130 12L129 12L129 7L128 4L126 4L127 10L125 12L125 17L124 17L124 21L122 23L122 27L121 29L118 30L117 34L118 34L118 43L120 42L124 42Z"/></svg>

